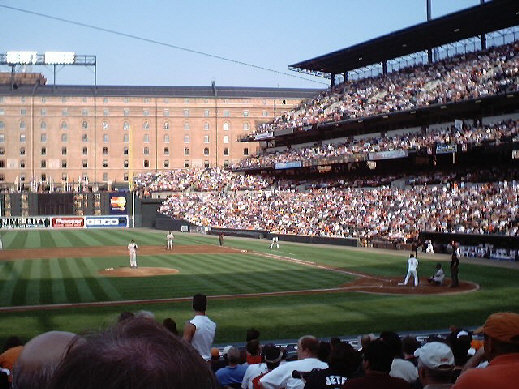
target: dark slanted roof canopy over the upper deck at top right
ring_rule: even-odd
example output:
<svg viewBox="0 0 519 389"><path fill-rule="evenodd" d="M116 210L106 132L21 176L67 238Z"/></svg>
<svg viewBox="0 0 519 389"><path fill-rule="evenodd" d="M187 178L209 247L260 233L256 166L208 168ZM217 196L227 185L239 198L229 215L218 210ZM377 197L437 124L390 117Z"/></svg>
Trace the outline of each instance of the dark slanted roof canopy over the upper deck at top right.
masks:
<svg viewBox="0 0 519 389"><path fill-rule="evenodd" d="M341 74L519 25L519 1L493 0L417 24L289 68Z"/></svg>

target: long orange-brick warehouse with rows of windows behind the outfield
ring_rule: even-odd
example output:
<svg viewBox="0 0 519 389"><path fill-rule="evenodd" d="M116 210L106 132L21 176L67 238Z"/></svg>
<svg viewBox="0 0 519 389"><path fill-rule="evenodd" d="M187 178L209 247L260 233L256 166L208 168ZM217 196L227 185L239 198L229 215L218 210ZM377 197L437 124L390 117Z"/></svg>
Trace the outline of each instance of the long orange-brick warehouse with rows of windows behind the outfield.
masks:
<svg viewBox="0 0 519 389"><path fill-rule="evenodd" d="M5 75L5 74L4 74ZM51 86L0 77L0 185L82 181L128 185L148 171L226 166L254 153L239 142L316 89ZM35 81L36 80L36 81ZM29 81L29 82L27 82Z"/></svg>

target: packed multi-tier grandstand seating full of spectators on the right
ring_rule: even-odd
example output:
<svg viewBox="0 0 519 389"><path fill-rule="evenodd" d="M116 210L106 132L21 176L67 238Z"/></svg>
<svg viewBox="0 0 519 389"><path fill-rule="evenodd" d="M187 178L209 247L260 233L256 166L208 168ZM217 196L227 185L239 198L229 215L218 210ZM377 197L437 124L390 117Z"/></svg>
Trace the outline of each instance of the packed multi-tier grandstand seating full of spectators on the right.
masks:
<svg viewBox="0 0 519 389"><path fill-rule="evenodd" d="M258 134L274 136L286 128L298 131L316 123L517 91L519 43L514 42L345 82L260 124ZM214 168L149 173L137 177L135 184L144 196L168 192L160 212L203 227L364 242L416 241L423 231L517 236L517 119L509 113L439 125L417 122L409 129L278 147L267 142L256 155L233 166L234 172ZM486 165L456 161L464 154L472 156L470 161L486 158L488 150L498 154L491 154L496 160ZM498 161L499 153L506 153L508 160ZM405 161L411 162L411 155L415 165L417 156L423 156L429 161L427 168L407 169ZM436 166L445 155L452 155L452 163ZM383 166L399 158L404 158L401 169L377 169L377 163ZM357 169L352 161L363 168ZM310 165L318 166L320 173L335 174L315 177Z"/></svg>

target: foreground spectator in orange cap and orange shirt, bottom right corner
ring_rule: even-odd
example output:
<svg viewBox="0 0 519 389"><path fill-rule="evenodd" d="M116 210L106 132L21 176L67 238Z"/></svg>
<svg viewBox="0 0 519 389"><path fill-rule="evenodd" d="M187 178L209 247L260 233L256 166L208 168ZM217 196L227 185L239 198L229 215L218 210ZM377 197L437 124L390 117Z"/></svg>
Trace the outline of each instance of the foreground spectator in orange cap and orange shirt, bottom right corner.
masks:
<svg viewBox="0 0 519 389"><path fill-rule="evenodd" d="M475 333L485 336L485 368L471 368L460 375L455 389L515 389L519 382L519 314L494 313Z"/></svg>

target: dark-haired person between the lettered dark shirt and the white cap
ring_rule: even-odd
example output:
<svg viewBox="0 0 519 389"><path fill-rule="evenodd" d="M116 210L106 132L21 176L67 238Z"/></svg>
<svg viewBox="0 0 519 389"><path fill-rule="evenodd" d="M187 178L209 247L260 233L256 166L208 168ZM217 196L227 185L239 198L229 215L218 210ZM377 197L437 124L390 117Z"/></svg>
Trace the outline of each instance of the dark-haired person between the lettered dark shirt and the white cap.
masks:
<svg viewBox="0 0 519 389"><path fill-rule="evenodd" d="M411 389L411 385L402 378L389 375L393 352L381 339L371 341L364 351L364 377L346 381L343 389Z"/></svg>

